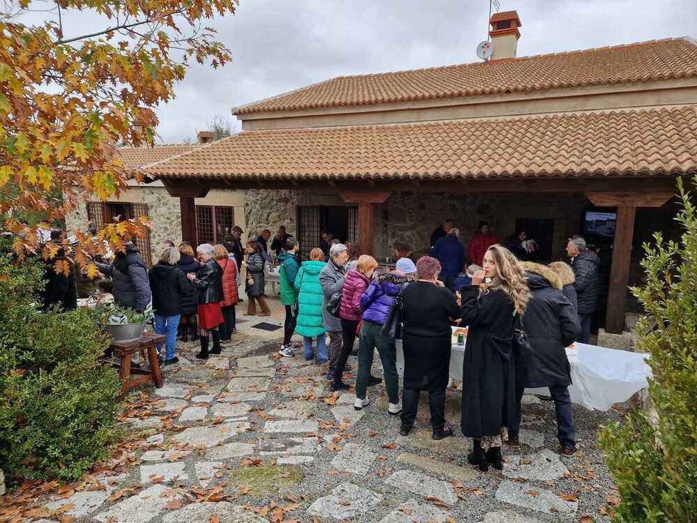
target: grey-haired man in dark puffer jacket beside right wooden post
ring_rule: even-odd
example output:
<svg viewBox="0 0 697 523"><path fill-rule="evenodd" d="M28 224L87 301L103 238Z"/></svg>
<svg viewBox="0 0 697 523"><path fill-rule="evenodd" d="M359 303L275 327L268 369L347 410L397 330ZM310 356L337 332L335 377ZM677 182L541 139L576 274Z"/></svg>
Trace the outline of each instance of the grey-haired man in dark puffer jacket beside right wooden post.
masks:
<svg viewBox="0 0 697 523"><path fill-rule="evenodd" d="M574 269L574 289L579 303L579 322L581 335L579 342L588 343L590 337L590 319L595 312L600 285L600 259L595 252L588 249L583 236L574 236L567 243L567 255L571 258Z"/></svg>

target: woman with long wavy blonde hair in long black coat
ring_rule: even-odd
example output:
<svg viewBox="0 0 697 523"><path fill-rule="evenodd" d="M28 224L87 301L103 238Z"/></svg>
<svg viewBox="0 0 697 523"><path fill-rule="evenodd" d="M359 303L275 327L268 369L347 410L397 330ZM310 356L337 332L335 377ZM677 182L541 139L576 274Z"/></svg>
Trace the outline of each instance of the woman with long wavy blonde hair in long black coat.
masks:
<svg viewBox="0 0 697 523"><path fill-rule="evenodd" d="M461 289L462 326L468 326L462 386L462 433L474 440L470 464L503 469L501 427L515 416L513 331L530 290L510 250L491 245L483 270ZM486 452L485 452L486 449Z"/></svg>

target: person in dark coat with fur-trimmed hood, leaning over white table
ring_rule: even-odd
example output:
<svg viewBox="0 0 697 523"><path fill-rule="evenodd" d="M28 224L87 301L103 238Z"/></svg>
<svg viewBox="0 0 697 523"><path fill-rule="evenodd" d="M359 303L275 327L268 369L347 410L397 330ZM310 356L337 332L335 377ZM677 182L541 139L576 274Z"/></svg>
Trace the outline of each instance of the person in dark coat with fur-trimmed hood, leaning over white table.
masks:
<svg viewBox="0 0 697 523"><path fill-rule="evenodd" d="M532 354L516 354L516 416L509 425L508 444L519 446L520 402L526 387L549 387L557 415L560 454L576 453L574 419L569 398L571 366L565 347L581 332L574 305L562 294L557 273L544 265L526 262L526 280L533 296L523 316L523 330L528 335Z"/></svg>

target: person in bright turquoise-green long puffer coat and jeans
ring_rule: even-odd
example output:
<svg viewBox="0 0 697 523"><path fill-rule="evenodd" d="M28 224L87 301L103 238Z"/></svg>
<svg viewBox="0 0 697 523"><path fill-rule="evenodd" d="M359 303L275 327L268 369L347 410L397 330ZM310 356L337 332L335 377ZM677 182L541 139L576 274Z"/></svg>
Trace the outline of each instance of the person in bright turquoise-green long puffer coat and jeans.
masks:
<svg viewBox="0 0 697 523"><path fill-rule="evenodd" d="M293 286L298 293L298 324L296 333L302 336L305 345L305 360L314 356L312 338L317 338L317 363L329 360L327 345L324 339L325 328L322 324L322 286L319 283L319 273L326 265L324 252L314 248L309 253L309 260L303 261L296 275Z"/></svg>

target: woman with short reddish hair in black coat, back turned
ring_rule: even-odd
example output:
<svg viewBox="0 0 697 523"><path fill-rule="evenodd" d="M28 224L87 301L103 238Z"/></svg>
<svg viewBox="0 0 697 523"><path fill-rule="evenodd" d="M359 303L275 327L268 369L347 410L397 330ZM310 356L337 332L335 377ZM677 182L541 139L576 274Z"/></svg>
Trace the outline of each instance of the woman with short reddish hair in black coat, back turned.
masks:
<svg viewBox="0 0 697 523"><path fill-rule="evenodd" d="M452 436L445 423L445 388L450 374L450 319L459 317L454 294L438 280L441 264L424 256L416 262L418 280L402 291L404 392L401 427L406 436L416 419L421 391L428 391L433 439Z"/></svg>

